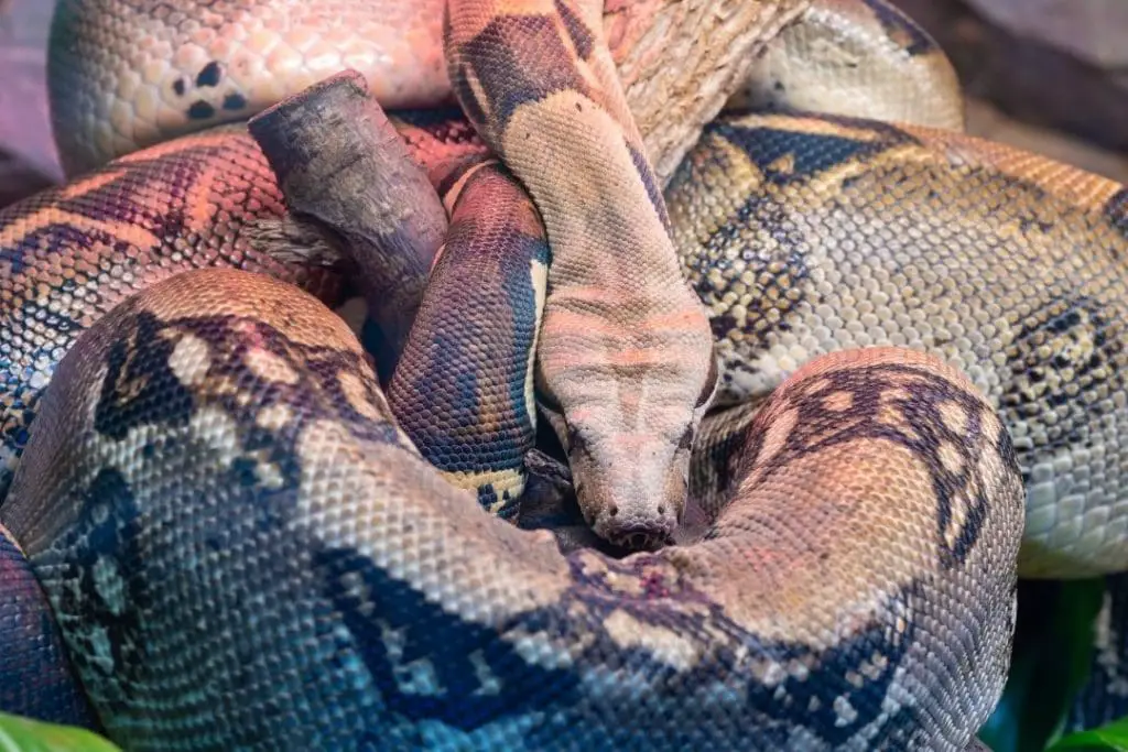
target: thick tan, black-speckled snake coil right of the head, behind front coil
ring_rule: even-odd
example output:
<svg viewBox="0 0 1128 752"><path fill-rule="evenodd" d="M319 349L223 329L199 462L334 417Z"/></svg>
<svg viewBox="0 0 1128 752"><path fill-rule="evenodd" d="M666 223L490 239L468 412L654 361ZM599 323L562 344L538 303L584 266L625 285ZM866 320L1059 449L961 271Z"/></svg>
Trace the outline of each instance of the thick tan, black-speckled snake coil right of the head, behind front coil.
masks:
<svg viewBox="0 0 1128 752"><path fill-rule="evenodd" d="M1125 186L950 131L723 123L667 194L717 334L717 404L763 398L828 352L933 353L1014 436L1021 574L1128 568Z"/></svg>

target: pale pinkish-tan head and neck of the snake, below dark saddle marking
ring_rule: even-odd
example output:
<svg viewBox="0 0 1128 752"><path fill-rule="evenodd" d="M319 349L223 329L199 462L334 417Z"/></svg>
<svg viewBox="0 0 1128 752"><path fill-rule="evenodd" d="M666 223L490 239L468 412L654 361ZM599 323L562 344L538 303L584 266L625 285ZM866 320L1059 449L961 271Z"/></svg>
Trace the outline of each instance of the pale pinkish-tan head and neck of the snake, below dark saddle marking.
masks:
<svg viewBox="0 0 1128 752"><path fill-rule="evenodd" d="M574 109L570 99L544 106L566 113ZM553 246L537 383L549 409L563 410L557 433L576 450L573 475L597 533L651 534L656 515L654 534L664 537L680 520L686 493L689 452L679 443L712 395L712 334L629 156L614 141L611 123L592 112L589 132L608 140L584 158L546 159L554 153L546 147L564 136L550 129L541 130L544 140L506 150L514 165L528 165L527 174L557 176L550 186L548 179L530 186L534 195L559 196L541 214L550 242L564 239ZM633 179L587 177L597 174ZM573 179L558 179L565 176Z"/></svg>

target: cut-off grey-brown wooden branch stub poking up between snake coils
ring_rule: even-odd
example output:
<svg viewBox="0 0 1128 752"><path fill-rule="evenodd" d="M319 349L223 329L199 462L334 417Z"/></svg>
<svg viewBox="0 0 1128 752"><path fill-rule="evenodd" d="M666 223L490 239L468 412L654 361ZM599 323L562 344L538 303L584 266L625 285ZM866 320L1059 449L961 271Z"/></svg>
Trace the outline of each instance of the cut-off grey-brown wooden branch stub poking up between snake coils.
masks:
<svg viewBox="0 0 1128 752"><path fill-rule="evenodd" d="M447 235L447 212L426 172L355 71L315 83L248 127L294 220L325 232L355 264L386 339L378 360L390 357L394 366Z"/></svg>

